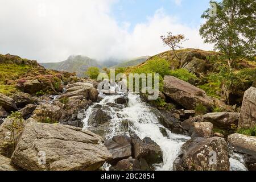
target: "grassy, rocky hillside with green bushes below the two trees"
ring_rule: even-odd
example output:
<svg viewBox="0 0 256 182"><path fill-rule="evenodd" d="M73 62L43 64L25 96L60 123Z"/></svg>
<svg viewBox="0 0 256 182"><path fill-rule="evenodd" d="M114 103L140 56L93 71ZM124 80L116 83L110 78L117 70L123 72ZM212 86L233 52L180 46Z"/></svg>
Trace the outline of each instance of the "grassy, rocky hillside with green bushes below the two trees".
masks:
<svg viewBox="0 0 256 182"><path fill-rule="evenodd" d="M201 88L208 96L222 99L229 105L241 105L243 93L256 82L256 62L237 61L232 72L218 52L200 49L172 51L150 57L145 63L127 69L126 73L159 73L172 75Z"/></svg>

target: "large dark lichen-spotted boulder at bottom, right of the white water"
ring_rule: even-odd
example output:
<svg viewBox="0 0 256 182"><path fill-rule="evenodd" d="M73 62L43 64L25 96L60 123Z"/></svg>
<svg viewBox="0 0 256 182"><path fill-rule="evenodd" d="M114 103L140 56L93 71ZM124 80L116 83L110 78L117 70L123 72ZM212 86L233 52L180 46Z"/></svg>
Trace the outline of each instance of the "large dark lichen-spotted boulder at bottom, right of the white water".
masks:
<svg viewBox="0 0 256 182"><path fill-rule="evenodd" d="M175 159L176 171L229 171L229 148L223 138L193 138Z"/></svg>

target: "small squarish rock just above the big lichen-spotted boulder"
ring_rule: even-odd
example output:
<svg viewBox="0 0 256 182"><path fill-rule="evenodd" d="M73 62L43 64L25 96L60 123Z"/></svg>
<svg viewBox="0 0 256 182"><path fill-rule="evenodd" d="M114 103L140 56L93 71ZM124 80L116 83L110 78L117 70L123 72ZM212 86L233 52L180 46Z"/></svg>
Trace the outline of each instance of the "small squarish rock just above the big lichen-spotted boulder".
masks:
<svg viewBox="0 0 256 182"><path fill-rule="evenodd" d="M212 137L213 124L210 122L195 122L194 123L194 131L192 134L192 138L195 137L203 137L210 138Z"/></svg>

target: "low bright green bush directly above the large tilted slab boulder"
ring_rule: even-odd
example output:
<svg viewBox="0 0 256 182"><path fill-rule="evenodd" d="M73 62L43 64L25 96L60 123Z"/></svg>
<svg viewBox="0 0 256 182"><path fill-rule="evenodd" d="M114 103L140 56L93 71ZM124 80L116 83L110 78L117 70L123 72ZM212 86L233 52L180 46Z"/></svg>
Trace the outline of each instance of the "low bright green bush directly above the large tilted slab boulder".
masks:
<svg viewBox="0 0 256 182"><path fill-rule="evenodd" d="M169 75L190 83L195 83L197 80L196 75L189 73L187 69L175 69L174 71L170 71Z"/></svg>

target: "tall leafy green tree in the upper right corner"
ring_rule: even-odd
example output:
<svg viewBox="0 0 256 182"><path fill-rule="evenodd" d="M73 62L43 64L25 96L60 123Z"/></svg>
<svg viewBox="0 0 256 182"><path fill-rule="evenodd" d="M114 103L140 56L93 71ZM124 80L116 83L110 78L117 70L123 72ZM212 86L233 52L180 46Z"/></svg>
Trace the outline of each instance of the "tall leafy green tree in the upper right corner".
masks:
<svg viewBox="0 0 256 182"><path fill-rule="evenodd" d="M213 43L214 49L225 54L231 70L237 59L255 56L256 52L256 1L210 1L217 7L217 16L206 10L201 18L207 21L200 28L205 43Z"/></svg>

